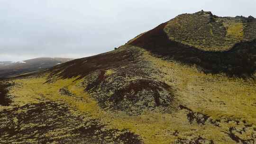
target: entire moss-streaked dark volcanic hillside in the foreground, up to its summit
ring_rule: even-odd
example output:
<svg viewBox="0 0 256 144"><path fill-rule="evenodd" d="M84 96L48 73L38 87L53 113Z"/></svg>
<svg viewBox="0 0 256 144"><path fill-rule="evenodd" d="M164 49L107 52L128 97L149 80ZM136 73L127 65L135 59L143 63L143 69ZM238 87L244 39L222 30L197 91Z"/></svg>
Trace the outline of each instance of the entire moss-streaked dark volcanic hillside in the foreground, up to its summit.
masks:
<svg viewBox="0 0 256 144"><path fill-rule="evenodd" d="M183 14L114 51L1 81L0 140L254 144L255 21Z"/></svg>

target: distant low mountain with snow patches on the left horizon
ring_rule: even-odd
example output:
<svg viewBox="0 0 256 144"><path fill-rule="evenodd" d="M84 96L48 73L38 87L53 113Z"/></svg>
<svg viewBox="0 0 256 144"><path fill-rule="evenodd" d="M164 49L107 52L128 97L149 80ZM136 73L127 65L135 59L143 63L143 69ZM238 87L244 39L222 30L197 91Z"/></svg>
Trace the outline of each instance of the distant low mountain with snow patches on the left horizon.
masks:
<svg viewBox="0 0 256 144"><path fill-rule="evenodd" d="M26 72L44 70L70 60L72 59L40 57L19 62L0 62L0 78L15 76Z"/></svg>

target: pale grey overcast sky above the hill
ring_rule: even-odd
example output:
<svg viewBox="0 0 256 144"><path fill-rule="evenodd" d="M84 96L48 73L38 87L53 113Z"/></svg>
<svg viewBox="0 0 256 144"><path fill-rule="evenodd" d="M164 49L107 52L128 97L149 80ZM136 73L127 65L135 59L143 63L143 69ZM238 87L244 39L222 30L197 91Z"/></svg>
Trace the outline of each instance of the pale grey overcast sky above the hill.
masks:
<svg viewBox="0 0 256 144"><path fill-rule="evenodd" d="M256 17L256 0L0 0L0 61L104 53L201 9Z"/></svg>

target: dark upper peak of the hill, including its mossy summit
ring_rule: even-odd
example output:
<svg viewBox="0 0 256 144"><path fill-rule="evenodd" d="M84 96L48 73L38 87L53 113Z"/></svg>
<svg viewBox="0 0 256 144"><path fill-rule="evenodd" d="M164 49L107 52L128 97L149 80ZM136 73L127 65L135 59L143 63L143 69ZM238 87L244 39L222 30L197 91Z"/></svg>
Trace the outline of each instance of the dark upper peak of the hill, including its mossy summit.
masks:
<svg viewBox="0 0 256 144"><path fill-rule="evenodd" d="M216 39L212 39L207 38L210 36L210 28L214 29L215 27L207 24L210 15L210 12L204 11L198 12L196 14L180 15L177 18L163 23L158 27L155 27L154 29L137 37L136 39L130 41L127 45L142 47L155 54L155 56L165 57L165 59L178 61L188 65L195 64L199 69L201 69L201 71L206 73L226 73L229 76L239 76L243 78L252 76L256 70L256 40L254 40L256 38L256 35L254 35L254 31L256 30L254 27L256 26L256 23L247 23L247 27L243 29L243 42L240 40L235 40L232 41L232 43L229 45L221 42L223 40L225 41L225 37L228 33L227 29L224 27L224 23L236 25L236 21L241 20L243 22L244 19L247 18L219 18L213 15L212 18L215 18L216 21L219 21L214 25L216 25L216 27L222 27L222 30L221 28L215 29L216 32L218 31L219 35L213 36L212 38ZM175 20L176 22L174 22ZM195 25L193 21L196 23ZM255 21L255 19L253 21ZM189 26L186 26L186 23ZM179 25L179 27L176 27L176 25ZM200 32L194 30L198 28L201 29ZM252 30L249 32L249 29ZM215 33L214 30L213 33ZM177 36L175 35L174 39L172 39L170 38L169 34L177 34ZM197 44L194 45L192 43L186 44L181 42L184 40L183 36L186 37L187 35L191 37L187 39L192 40L192 43L200 44L202 47L200 48L196 46ZM196 39L199 39L199 41L196 41ZM210 42L202 42L204 39L207 39ZM211 42L214 42L218 45L220 44L228 46L229 48L225 49L225 51L224 49L218 51L210 51L209 49L203 48L203 45L213 47Z"/></svg>

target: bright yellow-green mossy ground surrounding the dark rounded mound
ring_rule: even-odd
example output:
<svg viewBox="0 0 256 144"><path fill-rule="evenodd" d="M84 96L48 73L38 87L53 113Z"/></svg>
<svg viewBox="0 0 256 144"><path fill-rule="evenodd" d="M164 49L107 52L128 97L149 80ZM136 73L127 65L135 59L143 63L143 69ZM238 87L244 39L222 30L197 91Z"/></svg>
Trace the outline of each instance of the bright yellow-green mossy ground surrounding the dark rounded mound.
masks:
<svg viewBox="0 0 256 144"><path fill-rule="evenodd" d="M9 90L9 94L14 97L9 108L41 104L46 101L64 104L74 116L98 119L105 125L105 129L128 129L132 134L138 135L138 139L145 144L255 142L254 80L230 78L224 74L205 74L196 67L166 61L152 56L145 50L140 51L143 60L150 63L151 69L159 71L151 76L174 89L172 110L164 113L145 110L140 115L128 115L122 110L104 109L85 91L86 78L57 78L54 82L46 82L48 75L10 81L15 85ZM105 75L115 72L108 70ZM63 88L68 90L69 95L60 91ZM47 135L55 133L58 132ZM0 139L4 137L1 136Z"/></svg>

